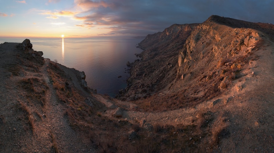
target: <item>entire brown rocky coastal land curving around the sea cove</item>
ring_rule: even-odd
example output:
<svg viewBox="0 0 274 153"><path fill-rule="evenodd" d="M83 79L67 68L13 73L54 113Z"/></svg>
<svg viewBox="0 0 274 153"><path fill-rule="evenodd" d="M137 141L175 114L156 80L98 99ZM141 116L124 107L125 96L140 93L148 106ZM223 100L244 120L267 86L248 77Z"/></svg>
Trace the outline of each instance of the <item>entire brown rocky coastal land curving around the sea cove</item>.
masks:
<svg viewBox="0 0 274 153"><path fill-rule="evenodd" d="M272 152L274 26L220 16L139 43L118 98L0 44L0 152Z"/></svg>

